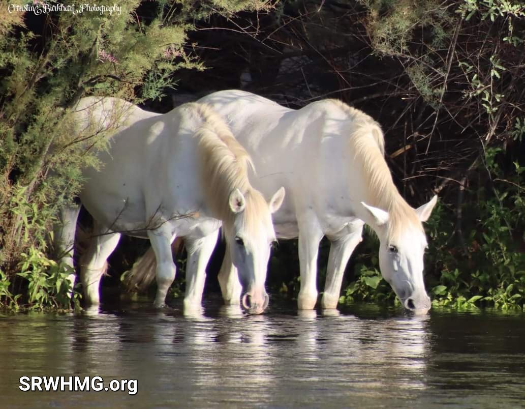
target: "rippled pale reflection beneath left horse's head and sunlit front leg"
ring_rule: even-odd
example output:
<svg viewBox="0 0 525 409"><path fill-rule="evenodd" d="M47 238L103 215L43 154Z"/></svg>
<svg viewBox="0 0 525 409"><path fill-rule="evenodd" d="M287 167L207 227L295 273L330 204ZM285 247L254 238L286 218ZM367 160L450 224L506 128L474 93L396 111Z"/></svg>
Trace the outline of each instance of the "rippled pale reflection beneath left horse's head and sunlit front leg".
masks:
<svg viewBox="0 0 525 409"><path fill-rule="evenodd" d="M271 332L267 315L247 317L239 305L224 305L216 318L193 311L188 320L175 329L172 347L190 371L193 385L204 387L208 396L222 396L222 402L233 406L247 402L246 396L238 394L239 385L257 391L250 399L271 400L275 357L267 343ZM202 403L206 406L206 401Z"/></svg>

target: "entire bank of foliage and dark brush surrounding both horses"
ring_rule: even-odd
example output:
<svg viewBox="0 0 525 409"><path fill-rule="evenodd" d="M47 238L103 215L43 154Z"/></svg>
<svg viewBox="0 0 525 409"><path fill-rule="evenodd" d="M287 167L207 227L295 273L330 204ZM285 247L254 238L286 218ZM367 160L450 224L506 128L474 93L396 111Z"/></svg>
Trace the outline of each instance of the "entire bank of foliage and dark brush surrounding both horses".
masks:
<svg viewBox="0 0 525 409"><path fill-rule="evenodd" d="M78 190L79 168L97 165L100 145L99 135L71 135L68 106L95 94L165 111L182 90L245 88L290 107L337 97L376 118L402 195L413 206L439 195L427 223L434 302L524 308L522 2L195 4L128 0L121 14L39 17L2 4L2 302L24 294L35 305L66 303L67 271L51 258L50 226ZM298 289L296 249L280 243L270 263L269 285L286 294ZM323 242L321 273L327 249ZM347 269L344 301L394 300L376 254L367 234Z"/></svg>

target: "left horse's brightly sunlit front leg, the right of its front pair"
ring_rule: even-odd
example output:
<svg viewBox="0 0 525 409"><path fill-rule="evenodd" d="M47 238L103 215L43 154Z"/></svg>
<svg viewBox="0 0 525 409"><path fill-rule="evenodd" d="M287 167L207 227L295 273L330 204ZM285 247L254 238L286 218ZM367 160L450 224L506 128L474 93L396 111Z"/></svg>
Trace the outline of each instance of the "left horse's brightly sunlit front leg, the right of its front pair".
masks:
<svg viewBox="0 0 525 409"><path fill-rule="evenodd" d="M186 294L184 308L192 309L201 306L204 282L206 280L206 266L212 256L217 243L219 230L202 238L185 237L188 259L186 262Z"/></svg>

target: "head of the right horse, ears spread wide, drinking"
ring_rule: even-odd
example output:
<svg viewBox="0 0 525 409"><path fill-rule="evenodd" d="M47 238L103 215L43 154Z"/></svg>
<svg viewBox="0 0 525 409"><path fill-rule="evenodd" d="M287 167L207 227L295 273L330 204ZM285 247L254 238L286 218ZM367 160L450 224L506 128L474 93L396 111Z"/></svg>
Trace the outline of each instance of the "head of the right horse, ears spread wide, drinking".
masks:
<svg viewBox="0 0 525 409"><path fill-rule="evenodd" d="M427 241L422 222L430 217L436 200L434 196L417 209L406 205L390 213L362 203L377 226L381 274L404 307L415 314L425 314L430 309L430 298L423 282Z"/></svg>

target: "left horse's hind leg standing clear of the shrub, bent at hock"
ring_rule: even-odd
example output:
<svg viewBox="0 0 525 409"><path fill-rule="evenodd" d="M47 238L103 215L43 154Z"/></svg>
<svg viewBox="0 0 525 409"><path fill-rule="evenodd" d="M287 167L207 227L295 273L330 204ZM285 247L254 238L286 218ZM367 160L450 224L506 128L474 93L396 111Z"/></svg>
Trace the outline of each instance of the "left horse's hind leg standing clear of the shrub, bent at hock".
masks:
<svg viewBox="0 0 525 409"><path fill-rule="evenodd" d="M86 302L91 305L100 302L100 278L106 269L106 260L117 247L120 239L120 233L108 232L97 221L94 221L94 224L93 238L80 262L82 287Z"/></svg>

